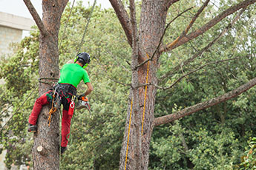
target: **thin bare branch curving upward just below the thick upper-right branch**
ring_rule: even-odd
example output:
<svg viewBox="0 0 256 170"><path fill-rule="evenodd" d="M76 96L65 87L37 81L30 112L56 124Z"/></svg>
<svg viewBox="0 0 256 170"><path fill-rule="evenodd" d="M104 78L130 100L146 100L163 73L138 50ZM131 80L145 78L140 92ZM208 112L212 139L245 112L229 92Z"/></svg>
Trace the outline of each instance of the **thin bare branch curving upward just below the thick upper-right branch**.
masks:
<svg viewBox="0 0 256 170"><path fill-rule="evenodd" d="M233 24L238 20L238 18L240 18L241 14L246 10L246 7L243 8L243 10L240 10L240 12L237 14L236 17L234 17L233 21L220 33L220 35L217 36L217 38L214 38L213 41L211 41L206 47L204 47L202 50L200 50L199 52L197 52L195 55L193 55L191 58L188 58L186 61L183 61L182 63L180 63L179 65L177 65L176 67L174 67L174 69L172 69L169 72L166 72L165 75L161 76L161 80L163 80L163 78L167 78L169 75L173 74L175 71L177 71L178 69L180 69L180 66L186 66L187 64L189 64L191 61L194 61L195 58L201 56L203 54L203 52L205 52L206 50L209 50L209 48L215 44L217 41L219 41L219 39L226 34L226 32L233 26Z"/></svg>

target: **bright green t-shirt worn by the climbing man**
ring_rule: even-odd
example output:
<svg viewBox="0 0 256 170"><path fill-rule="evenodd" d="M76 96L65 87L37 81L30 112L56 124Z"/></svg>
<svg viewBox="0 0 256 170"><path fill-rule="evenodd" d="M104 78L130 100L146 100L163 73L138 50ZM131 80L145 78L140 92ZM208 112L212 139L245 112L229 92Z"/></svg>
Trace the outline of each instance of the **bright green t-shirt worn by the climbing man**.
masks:
<svg viewBox="0 0 256 170"><path fill-rule="evenodd" d="M79 64L65 64L60 70L59 84L72 84L77 87L80 81L90 82L88 73Z"/></svg>

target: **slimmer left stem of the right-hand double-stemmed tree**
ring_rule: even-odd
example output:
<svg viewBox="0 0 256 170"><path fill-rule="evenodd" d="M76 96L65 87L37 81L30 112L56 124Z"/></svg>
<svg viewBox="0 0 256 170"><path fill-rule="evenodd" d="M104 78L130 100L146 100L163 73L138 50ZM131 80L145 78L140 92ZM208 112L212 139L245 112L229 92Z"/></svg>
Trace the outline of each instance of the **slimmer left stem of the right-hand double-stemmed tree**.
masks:
<svg viewBox="0 0 256 170"><path fill-rule="evenodd" d="M127 133L125 133L124 144L122 145L121 157L124 159L120 161L120 169L141 169L142 168L142 145L141 145L141 120L140 120L140 105L139 105L139 91L136 88L139 83L138 70L134 67L138 64L138 35L137 35L137 21L135 13L134 0L130 0L131 10L131 37L132 37L132 81L131 81L131 100L133 102L130 108L128 121L127 121ZM131 116L131 119L130 119ZM130 127L130 128L129 128ZM128 137L129 133L129 137ZM127 135L127 137L126 137ZM129 140L129 141L128 141ZM130 145L128 143L131 143ZM128 152L127 152L128 151ZM126 154L127 153L127 154Z"/></svg>

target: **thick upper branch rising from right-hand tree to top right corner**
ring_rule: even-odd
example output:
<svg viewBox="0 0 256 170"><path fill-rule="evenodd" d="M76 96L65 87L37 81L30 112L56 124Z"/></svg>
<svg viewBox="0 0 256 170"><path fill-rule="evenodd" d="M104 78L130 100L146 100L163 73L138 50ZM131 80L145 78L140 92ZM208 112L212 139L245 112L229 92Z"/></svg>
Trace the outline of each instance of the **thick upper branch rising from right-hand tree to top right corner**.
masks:
<svg viewBox="0 0 256 170"><path fill-rule="evenodd" d="M231 15L232 13L236 12L237 10L240 10L241 8L249 6L249 4L254 4L256 0L246 0L242 1L239 4L229 7L229 9L225 10L223 13L220 13L220 15L216 16L215 18L211 19L207 24L205 24L203 27L200 27L200 29L195 30L193 33L190 33L183 38L180 39L176 44L167 44L165 47L160 48L160 52L167 52L169 50L173 50L177 47L179 47L182 44L185 44L186 42L190 41L193 38L196 38L199 35L202 35L207 30L209 30L211 27L213 27L215 24L220 22L223 18L226 18L226 16Z"/></svg>

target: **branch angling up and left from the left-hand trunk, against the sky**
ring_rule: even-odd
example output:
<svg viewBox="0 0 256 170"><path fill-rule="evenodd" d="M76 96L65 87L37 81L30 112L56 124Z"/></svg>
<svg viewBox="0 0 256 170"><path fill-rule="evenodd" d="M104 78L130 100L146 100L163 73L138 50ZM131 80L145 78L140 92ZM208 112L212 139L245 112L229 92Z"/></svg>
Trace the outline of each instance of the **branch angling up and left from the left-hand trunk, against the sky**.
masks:
<svg viewBox="0 0 256 170"><path fill-rule="evenodd" d="M33 16L33 19L36 22L37 27L39 27L40 33L45 36L47 35L47 30L45 29L45 25L42 23L42 20L39 16L39 14L36 12L35 7L33 7L33 4L30 0L23 0L24 3L27 6L27 9L30 11L31 16Z"/></svg>

